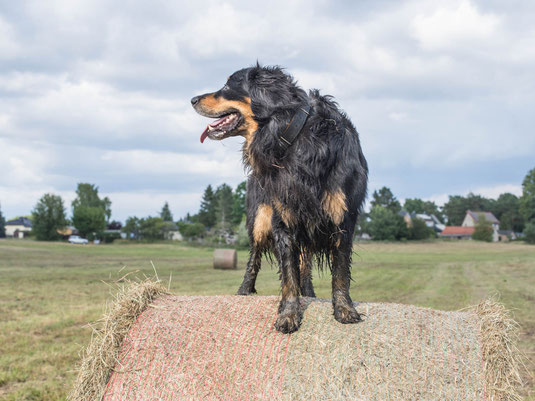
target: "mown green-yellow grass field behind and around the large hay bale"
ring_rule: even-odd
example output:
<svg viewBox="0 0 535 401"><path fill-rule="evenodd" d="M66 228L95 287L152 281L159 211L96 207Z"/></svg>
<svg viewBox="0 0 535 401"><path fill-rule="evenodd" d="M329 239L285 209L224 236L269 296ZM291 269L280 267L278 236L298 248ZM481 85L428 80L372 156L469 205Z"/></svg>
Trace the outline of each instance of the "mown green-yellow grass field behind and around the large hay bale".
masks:
<svg viewBox="0 0 535 401"><path fill-rule="evenodd" d="M78 352L91 335L111 282L126 272L172 275L176 294L232 294L245 268L215 271L212 249L180 244L76 246L0 241L0 400L62 400ZM415 304L456 310L500 294L522 325L521 349L535 374L535 247L477 242L367 243L355 247L352 297L358 301ZM126 267L125 267L126 266ZM123 269L124 268L124 269ZM123 269L120 273L119 270ZM319 297L330 297L330 275L314 278ZM275 268L264 264L257 289L279 293ZM528 399L533 376L525 372Z"/></svg>

